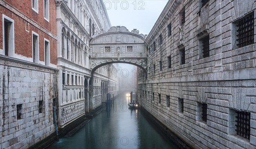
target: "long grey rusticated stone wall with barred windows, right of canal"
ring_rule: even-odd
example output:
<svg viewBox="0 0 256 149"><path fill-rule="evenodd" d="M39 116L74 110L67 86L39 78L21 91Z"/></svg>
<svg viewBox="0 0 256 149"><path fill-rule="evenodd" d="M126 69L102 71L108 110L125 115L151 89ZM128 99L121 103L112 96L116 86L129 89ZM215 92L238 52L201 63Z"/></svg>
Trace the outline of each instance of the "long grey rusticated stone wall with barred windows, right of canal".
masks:
<svg viewBox="0 0 256 149"><path fill-rule="evenodd" d="M255 11L255 2L210 0L202 8L201 5L200 0L167 3L145 41L148 77L143 77L143 71L139 70L140 104L193 148L254 149L255 43L236 47L236 21ZM183 7L185 23L182 25ZM209 57L204 58L201 40L207 34ZM185 64L181 64L183 48ZM183 112L180 99L183 99ZM207 104L206 122L201 118L201 104ZM250 139L236 135L235 111L250 112Z"/></svg>

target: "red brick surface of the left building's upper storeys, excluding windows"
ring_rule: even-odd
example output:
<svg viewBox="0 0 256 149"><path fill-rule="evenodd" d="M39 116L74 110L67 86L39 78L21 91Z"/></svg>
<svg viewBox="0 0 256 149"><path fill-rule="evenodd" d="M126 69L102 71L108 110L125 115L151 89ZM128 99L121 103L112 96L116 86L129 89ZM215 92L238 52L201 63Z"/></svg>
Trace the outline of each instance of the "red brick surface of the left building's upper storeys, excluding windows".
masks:
<svg viewBox="0 0 256 149"><path fill-rule="evenodd" d="M31 0L6 0L7 3L21 11L39 25L56 35L56 10L55 0L49 0L49 22L44 19L43 0L39 0L38 14L32 10ZM44 61L44 38L50 42L50 63L57 65L57 45L56 40L45 34L32 24L29 24L29 32L26 29L26 20L12 13L3 6L0 6L2 14L12 18L15 24L15 53L26 57L32 57L32 31L39 34L39 60ZM3 22L0 19L0 48L3 48Z"/></svg>

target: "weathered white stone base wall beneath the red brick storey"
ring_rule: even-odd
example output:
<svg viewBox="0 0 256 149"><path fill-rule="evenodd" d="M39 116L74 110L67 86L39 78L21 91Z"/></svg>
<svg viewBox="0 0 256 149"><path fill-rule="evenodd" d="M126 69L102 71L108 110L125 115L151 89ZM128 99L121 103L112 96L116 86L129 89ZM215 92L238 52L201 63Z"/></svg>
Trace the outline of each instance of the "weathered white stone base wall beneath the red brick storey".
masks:
<svg viewBox="0 0 256 149"><path fill-rule="evenodd" d="M0 59L0 148L28 148L55 132L58 70Z"/></svg>

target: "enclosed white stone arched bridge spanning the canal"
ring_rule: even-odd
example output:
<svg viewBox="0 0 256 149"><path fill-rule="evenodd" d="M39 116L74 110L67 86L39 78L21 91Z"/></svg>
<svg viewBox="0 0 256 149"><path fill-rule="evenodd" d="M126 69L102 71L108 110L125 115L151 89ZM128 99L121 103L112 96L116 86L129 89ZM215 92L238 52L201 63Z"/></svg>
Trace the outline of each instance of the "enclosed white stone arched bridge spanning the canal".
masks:
<svg viewBox="0 0 256 149"><path fill-rule="evenodd" d="M131 32L124 26L113 26L107 32L101 30L90 41L90 68L94 71L111 63L127 63L142 68L146 73L146 36L136 29Z"/></svg>

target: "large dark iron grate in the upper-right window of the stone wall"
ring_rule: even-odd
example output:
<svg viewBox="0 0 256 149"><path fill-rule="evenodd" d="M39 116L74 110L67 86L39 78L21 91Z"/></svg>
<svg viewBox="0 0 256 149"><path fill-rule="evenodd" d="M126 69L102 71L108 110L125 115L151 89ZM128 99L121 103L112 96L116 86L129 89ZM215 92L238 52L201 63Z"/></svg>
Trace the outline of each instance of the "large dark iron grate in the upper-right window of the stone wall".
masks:
<svg viewBox="0 0 256 149"><path fill-rule="evenodd" d="M251 13L237 22L237 46L239 48L254 43L254 13Z"/></svg>

